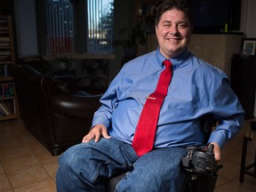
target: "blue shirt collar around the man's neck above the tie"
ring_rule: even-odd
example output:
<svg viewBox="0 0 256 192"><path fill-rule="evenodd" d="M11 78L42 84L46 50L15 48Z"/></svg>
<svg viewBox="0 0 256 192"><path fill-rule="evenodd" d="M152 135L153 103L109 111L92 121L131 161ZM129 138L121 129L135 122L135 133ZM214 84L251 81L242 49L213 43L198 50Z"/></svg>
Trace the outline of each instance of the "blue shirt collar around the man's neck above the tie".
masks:
<svg viewBox="0 0 256 192"><path fill-rule="evenodd" d="M184 52L181 52L179 55L176 57L170 59L172 62L173 68L178 68L182 63L184 63L184 60L186 60L189 56L190 52L188 52L188 49L186 49ZM159 63L163 63L165 59L164 55L160 52L159 46L157 47L156 50L156 58L159 61Z"/></svg>

